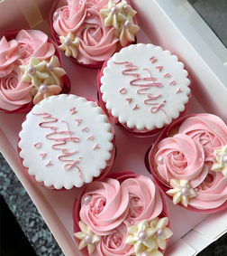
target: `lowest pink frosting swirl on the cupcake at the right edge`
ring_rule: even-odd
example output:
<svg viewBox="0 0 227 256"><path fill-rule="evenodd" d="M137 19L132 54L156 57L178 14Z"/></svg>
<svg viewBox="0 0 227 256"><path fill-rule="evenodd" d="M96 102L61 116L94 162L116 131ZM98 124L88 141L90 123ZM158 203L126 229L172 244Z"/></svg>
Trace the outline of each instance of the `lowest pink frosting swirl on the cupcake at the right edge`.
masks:
<svg viewBox="0 0 227 256"><path fill-rule="evenodd" d="M222 172L209 171L203 183L195 188L196 196L189 204L197 209L214 209L227 200L227 177Z"/></svg>

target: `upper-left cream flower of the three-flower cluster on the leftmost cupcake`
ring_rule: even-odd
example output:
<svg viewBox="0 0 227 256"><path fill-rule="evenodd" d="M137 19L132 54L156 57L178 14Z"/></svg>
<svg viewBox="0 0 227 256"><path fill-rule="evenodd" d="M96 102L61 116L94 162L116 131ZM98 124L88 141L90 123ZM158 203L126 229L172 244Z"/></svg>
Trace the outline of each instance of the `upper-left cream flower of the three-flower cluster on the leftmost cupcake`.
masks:
<svg viewBox="0 0 227 256"><path fill-rule="evenodd" d="M32 82L35 87L39 87L41 81L50 77L50 74L44 69L43 63L35 57L30 59L29 64L21 65L20 69L24 72L22 81Z"/></svg>

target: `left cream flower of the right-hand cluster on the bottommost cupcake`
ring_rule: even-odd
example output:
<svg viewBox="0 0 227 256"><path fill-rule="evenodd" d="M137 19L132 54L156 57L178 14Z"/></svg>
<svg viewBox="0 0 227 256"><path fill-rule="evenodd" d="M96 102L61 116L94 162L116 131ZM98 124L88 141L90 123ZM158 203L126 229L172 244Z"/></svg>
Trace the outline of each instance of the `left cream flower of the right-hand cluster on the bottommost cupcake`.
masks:
<svg viewBox="0 0 227 256"><path fill-rule="evenodd" d="M142 251L153 251L155 249L154 231L147 221L142 221L138 226L132 225L128 228L128 232L129 236L125 243L134 245L136 255L140 255Z"/></svg>

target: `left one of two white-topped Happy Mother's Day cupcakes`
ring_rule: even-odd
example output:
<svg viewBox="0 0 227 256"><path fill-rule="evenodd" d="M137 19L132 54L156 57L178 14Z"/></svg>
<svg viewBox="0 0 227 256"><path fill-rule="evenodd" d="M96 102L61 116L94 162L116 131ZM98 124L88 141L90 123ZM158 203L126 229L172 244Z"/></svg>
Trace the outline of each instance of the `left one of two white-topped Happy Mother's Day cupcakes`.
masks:
<svg viewBox="0 0 227 256"><path fill-rule="evenodd" d="M114 128L95 101L51 96L27 114L18 153L37 185L81 187L104 177L112 166Z"/></svg>

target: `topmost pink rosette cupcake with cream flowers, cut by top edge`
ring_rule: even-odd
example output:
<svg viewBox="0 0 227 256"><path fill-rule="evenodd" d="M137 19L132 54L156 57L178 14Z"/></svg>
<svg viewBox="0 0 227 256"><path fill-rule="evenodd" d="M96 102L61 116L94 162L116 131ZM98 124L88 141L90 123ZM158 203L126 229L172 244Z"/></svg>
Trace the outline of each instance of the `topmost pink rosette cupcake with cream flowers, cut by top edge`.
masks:
<svg viewBox="0 0 227 256"><path fill-rule="evenodd" d="M57 0L50 11L50 31L73 61L97 68L135 41L135 14L128 0Z"/></svg>

